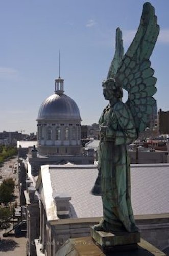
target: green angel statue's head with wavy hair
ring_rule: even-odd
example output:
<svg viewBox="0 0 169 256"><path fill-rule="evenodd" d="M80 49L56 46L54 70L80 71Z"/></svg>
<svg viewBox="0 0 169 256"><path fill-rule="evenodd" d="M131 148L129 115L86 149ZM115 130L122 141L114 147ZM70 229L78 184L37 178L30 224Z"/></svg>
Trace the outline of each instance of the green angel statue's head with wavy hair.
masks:
<svg viewBox="0 0 169 256"><path fill-rule="evenodd" d="M103 81L102 87L103 95L106 100L111 100L114 97L118 100L122 99L122 87L118 86L117 82L113 78L109 78L106 81Z"/></svg>

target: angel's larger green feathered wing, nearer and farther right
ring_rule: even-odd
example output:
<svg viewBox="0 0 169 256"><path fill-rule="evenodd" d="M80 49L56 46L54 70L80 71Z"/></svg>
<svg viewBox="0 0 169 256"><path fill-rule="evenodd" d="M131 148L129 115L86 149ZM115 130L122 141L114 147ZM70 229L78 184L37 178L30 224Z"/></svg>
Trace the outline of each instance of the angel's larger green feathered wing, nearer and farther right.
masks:
<svg viewBox="0 0 169 256"><path fill-rule="evenodd" d="M158 34L154 7L145 3L137 33L114 76L117 84L129 93L126 104L132 112L138 133L145 130L156 102L152 97L156 92L156 78L153 77L149 58Z"/></svg>

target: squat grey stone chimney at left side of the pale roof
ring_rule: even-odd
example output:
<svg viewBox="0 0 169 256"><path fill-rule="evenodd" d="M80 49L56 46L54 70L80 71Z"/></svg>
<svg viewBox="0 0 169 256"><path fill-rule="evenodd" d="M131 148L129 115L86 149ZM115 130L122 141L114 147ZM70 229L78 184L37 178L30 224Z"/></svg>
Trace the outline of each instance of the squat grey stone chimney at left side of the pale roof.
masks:
<svg viewBox="0 0 169 256"><path fill-rule="evenodd" d="M56 202L57 215L69 215L71 197L66 193L53 193Z"/></svg>

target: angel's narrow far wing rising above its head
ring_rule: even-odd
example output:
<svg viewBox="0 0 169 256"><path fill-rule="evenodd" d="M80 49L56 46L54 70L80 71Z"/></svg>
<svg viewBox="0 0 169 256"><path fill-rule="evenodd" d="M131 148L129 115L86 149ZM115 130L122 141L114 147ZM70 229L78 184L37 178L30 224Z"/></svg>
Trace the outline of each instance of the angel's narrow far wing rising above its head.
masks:
<svg viewBox="0 0 169 256"><path fill-rule="evenodd" d="M117 28L116 37L115 37L115 54L109 68L107 79L115 76L123 56L124 56L124 48L123 48L123 40L122 40L122 31L120 30L120 28Z"/></svg>

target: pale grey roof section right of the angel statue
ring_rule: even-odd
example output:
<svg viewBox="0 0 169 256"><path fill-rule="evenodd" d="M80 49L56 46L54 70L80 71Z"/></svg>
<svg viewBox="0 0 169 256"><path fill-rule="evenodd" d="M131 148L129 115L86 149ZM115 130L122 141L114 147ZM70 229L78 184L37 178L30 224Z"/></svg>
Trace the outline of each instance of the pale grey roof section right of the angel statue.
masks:
<svg viewBox="0 0 169 256"><path fill-rule="evenodd" d="M142 165L142 166L141 166ZM131 168L134 214L169 212L169 165L139 164Z"/></svg>

